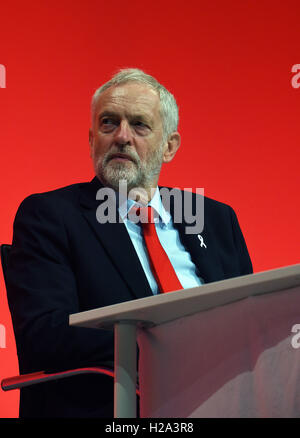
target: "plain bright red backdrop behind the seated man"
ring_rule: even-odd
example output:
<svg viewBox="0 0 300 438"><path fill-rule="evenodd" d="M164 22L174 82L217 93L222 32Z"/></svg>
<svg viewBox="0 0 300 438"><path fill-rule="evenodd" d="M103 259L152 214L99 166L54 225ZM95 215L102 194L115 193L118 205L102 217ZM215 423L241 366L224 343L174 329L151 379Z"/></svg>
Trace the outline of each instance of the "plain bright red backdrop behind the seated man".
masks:
<svg viewBox="0 0 300 438"><path fill-rule="evenodd" d="M299 262L298 0L14 1L0 6L0 242L22 199L93 177L89 105L116 70L157 77L182 146L160 183L233 206L255 272ZM18 373L3 278L0 379ZM300 323L300 316L299 316ZM0 390L0 417L18 392Z"/></svg>

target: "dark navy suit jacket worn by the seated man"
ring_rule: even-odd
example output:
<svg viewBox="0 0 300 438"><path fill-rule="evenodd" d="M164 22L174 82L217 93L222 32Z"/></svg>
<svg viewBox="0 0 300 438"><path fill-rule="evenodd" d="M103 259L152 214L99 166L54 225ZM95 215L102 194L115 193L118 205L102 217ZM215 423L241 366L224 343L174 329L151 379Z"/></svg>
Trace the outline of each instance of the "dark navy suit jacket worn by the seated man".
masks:
<svg viewBox="0 0 300 438"><path fill-rule="evenodd" d="M69 327L69 315L152 295L125 225L97 222L100 187L94 178L29 196L19 207L8 302L20 373L112 364L113 334ZM251 273L232 208L205 198L204 222L207 248L197 235L185 234L186 224L175 224L204 281ZM112 417L112 379L77 376L25 388L20 416Z"/></svg>

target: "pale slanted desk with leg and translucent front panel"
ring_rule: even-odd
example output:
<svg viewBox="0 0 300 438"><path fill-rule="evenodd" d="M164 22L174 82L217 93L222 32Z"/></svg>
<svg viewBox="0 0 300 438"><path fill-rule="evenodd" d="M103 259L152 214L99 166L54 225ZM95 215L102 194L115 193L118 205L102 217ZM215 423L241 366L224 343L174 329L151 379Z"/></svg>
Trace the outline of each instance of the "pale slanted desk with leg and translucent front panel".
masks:
<svg viewBox="0 0 300 438"><path fill-rule="evenodd" d="M300 417L300 264L69 322L114 330L116 418L136 416L137 343L141 417Z"/></svg>

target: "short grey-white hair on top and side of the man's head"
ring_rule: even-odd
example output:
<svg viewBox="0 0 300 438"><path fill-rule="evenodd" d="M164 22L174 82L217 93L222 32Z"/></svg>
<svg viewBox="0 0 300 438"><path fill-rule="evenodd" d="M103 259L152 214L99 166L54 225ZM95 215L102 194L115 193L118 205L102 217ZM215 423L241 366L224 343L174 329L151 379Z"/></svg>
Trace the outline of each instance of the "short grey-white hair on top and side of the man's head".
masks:
<svg viewBox="0 0 300 438"><path fill-rule="evenodd" d="M148 85L155 90L160 99L161 118L163 124L163 143L167 140L172 132L177 131L178 128L178 106L174 96L161 85L153 76L148 75L138 68L122 69L115 74L108 82L98 88L93 97L91 103L92 120L95 114L95 108L98 97L101 93L114 85L125 84L126 82L141 82Z"/></svg>

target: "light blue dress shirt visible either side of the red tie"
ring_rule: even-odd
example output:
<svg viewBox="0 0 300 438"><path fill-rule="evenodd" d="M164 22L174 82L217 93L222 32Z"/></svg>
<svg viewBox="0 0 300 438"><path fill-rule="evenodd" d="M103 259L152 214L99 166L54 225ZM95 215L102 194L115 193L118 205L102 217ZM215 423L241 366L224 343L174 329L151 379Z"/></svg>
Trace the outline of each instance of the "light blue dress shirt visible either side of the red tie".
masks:
<svg viewBox="0 0 300 438"><path fill-rule="evenodd" d="M144 269L149 285L153 294L159 292L157 282L152 274L146 244L143 238L141 224L135 224L128 219L127 215L130 209L136 203L127 199L123 205L119 205L119 214L126 226L130 239L136 250L137 256ZM179 232L174 228L173 220L161 202L158 187L155 194L148 204L159 214L159 221L155 224L159 241L166 251L170 262L176 272L176 275L184 289L196 287L203 284L203 280L198 275L198 270L192 262L190 254L186 251L180 242Z"/></svg>

